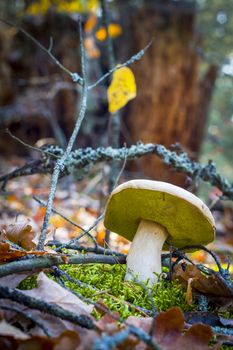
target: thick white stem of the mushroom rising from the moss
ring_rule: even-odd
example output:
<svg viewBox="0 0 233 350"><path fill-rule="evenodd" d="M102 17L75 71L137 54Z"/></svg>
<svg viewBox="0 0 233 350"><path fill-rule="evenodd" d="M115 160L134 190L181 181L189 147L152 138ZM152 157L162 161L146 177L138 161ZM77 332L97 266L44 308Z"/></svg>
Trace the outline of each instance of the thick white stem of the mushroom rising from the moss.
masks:
<svg viewBox="0 0 233 350"><path fill-rule="evenodd" d="M150 285L157 282L157 275L162 271L162 247L167 236L167 230L160 224L140 221L127 256L125 281L133 280L136 275L141 282L148 279Z"/></svg>

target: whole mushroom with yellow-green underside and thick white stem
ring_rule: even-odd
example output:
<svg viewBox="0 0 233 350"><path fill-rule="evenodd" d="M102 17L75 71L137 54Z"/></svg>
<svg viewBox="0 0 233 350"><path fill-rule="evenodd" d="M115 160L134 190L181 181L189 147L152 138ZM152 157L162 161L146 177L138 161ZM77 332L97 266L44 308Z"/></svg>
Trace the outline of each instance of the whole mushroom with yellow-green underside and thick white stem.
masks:
<svg viewBox="0 0 233 350"><path fill-rule="evenodd" d="M125 280L136 275L150 285L161 273L163 248L205 245L215 237L214 218L198 197L152 180L131 180L118 186L108 200L104 225L132 241Z"/></svg>

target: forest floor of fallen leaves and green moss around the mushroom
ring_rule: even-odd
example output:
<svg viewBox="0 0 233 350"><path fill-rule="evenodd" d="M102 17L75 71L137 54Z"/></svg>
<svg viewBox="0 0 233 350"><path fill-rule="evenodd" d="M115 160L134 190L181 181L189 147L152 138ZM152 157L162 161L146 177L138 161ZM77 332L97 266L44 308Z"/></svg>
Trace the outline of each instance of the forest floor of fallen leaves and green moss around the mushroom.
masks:
<svg viewBox="0 0 233 350"><path fill-rule="evenodd" d="M20 158L11 159L10 162L2 159L1 173L7 173L12 164L18 167L22 162ZM87 180L75 182L67 177L60 182L54 201L57 213L53 213L50 218L47 242L59 241L68 244L96 222L103 212L107 198L107 189L101 181L101 174L102 169L97 168L95 175L88 177ZM70 254L74 253L74 250L71 252L69 249L55 252L52 244L46 246L45 252L36 251L45 214L45 207L39 201L46 201L49 186L49 176L24 176L9 181L6 191L2 192L0 269L4 265L25 261L27 258L43 258L43 254L50 256L60 254L59 256L62 256L63 260L67 259L68 263ZM214 199L214 196L213 191L210 193L210 198ZM230 256L231 260L233 257L233 209L228 203L216 205L213 215L217 223L217 237L214 243L208 245L208 249L217 255L225 271L227 257ZM67 218L80 228L68 222ZM91 231L100 247L127 254L130 246L127 240L111 233L110 240L106 244L105 233L103 220L99 221ZM76 243L84 247L83 252L75 252L77 255L88 254L85 249L93 247L88 235L84 235ZM81 327L80 323L74 320L70 322L69 317L62 320L53 313L48 314L47 311L44 313L26 306L25 301L20 305L14 297L7 298L7 308L4 302L6 296L2 292L0 346L7 349L18 349L18 346L24 345L25 349L40 346L40 349L56 350L89 348L169 350L209 349L208 346L212 344L213 349L231 348L233 346L232 285L224 281L208 251L198 250L187 256L194 265L185 260L179 262L172 272L172 277L170 276L173 282L169 282L167 278L169 265L166 265L165 261L164 272L167 280L161 280L156 290L150 290L148 286L144 288L140 285L135 287L133 284L126 284L123 281L124 267L119 268L122 265L118 264L111 267L103 264L80 265L77 270L68 265L65 270L59 269L60 274L61 271L65 271L65 274L71 276L73 279L70 280L71 284L64 283L64 280L62 282L61 275L52 276L48 268L40 269L40 273L37 272L36 275L32 271L14 274L11 272L9 275L4 275L0 279L0 286L15 290L21 283L20 290L25 295L87 316L92 325L89 328L92 329L88 330L86 325ZM210 269L209 274L200 272L197 268L199 264ZM232 279L232 266L228 271ZM112 279L113 274L115 277ZM28 285L26 283L24 284L26 287L22 287L24 283L22 281L32 275L37 281L29 278ZM59 279L60 284L55 282ZM80 284L78 286L77 280ZM82 284L83 286L86 284L86 289ZM92 293L87 285L92 289ZM179 285L182 286L181 289ZM150 297L153 305L150 304ZM166 301L166 298L170 300ZM161 299L164 300L161 302ZM92 304L87 303L87 300Z"/></svg>

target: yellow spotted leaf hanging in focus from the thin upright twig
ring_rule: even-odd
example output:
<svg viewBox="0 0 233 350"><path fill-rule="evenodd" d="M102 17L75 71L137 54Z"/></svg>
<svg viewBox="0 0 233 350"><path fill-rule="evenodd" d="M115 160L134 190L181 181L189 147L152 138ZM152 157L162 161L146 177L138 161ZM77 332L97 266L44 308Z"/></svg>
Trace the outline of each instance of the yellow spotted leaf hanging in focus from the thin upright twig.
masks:
<svg viewBox="0 0 233 350"><path fill-rule="evenodd" d="M128 101L137 95L137 87L132 70L128 67L119 68L113 73L112 82L107 91L108 110L110 113L117 112Z"/></svg>

